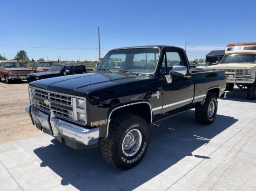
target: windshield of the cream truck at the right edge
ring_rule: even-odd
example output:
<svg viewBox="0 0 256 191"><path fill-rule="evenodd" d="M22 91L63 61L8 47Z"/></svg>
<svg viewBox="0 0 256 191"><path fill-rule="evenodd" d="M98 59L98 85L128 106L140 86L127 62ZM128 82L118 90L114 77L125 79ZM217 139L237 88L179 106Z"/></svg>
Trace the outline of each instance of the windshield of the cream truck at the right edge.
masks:
<svg viewBox="0 0 256 191"><path fill-rule="evenodd" d="M219 64L227 63L248 63L256 64L256 54L227 54Z"/></svg>

